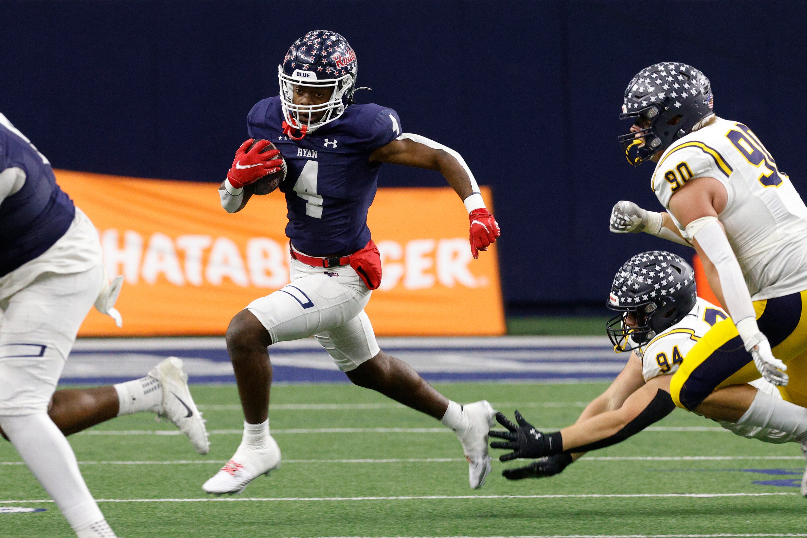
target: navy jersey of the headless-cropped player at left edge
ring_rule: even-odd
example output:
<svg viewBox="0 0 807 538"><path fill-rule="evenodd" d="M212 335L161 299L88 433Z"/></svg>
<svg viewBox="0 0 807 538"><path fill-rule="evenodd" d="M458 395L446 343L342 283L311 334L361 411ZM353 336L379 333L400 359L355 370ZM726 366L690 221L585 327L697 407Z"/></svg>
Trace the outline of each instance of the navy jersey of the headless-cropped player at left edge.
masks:
<svg viewBox="0 0 807 538"><path fill-rule="evenodd" d="M51 248L73 223L73 201L50 163L0 114L0 172L23 169L19 192L0 200L0 277Z"/></svg>

